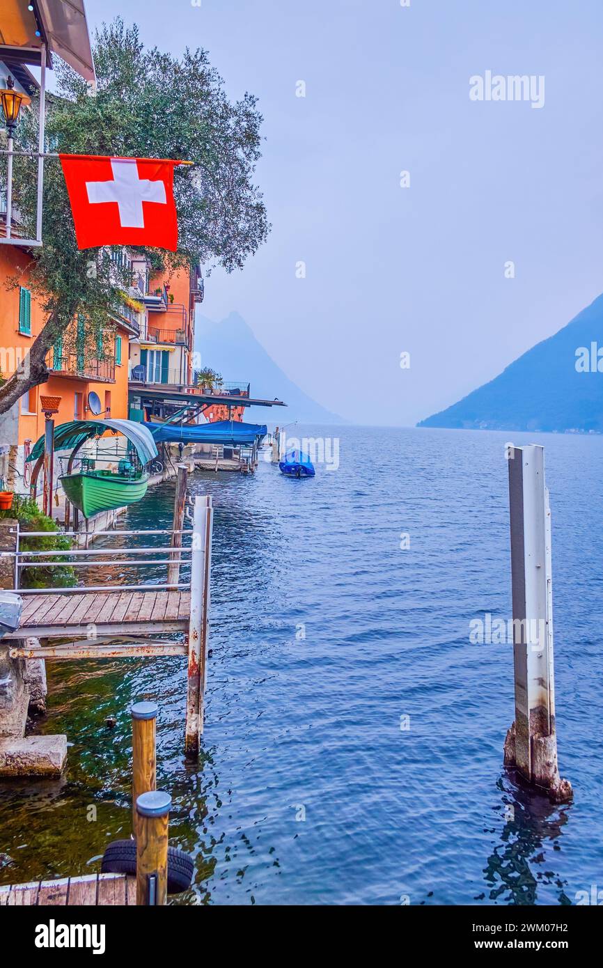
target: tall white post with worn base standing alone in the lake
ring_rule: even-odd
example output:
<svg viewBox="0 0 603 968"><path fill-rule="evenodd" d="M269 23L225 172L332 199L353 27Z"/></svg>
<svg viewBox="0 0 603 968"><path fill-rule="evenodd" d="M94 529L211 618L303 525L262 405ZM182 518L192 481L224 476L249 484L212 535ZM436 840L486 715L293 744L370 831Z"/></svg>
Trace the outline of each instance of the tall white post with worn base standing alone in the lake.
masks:
<svg viewBox="0 0 603 968"><path fill-rule="evenodd" d="M504 764L556 802L571 799L559 777L553 663L551 508L544 447L508 448L515 721Z"/></svg>

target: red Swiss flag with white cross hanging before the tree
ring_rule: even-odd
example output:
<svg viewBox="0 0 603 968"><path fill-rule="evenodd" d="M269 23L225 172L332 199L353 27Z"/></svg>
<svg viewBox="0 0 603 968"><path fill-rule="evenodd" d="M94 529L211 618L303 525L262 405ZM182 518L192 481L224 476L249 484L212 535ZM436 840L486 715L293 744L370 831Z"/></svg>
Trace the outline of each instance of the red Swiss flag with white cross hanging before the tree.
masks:
<svg viewBox="0 0 603 968"><path fill-rule="evenodd" d="M78 249L141 245L175 252L174 166L149 158L59 155Z"/></svg>

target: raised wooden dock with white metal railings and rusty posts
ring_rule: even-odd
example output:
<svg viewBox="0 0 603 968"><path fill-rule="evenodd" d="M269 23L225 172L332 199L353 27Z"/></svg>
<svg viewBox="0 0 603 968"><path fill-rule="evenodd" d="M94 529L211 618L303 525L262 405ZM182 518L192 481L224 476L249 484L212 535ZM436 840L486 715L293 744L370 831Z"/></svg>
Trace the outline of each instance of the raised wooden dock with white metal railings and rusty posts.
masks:
<svg viewBox="0 0 603 968"><path fill-rule="evenodd" d="M197 756L203 732L213 508L209 497L196 497L194 506L187 508L186 481L187 469L180 466L172 529L115 529L94 535L116 538L116 547L91 549L86 533L83 549L26 551L19 544L25 534L19 534L17 526L15 551L3 555L15 559L15 591L23 596L23 609L18 629L4 642L11 658L25 660L186 656L185 752ZM185 517L191 529L184 529ZM27 532L30 537L40 533L47 536ZM76 532L64 533L82 540ZM169 544L126 546L130 536L147 535L165 535ZM183 544L184 535L190 536L190 545ZM188 582L181 581L183 564L190 565ZM153 566L155 573L158 565L166 565L166 580L160 584L154 576L151 584L20 588L23 568L107 567L110 574L123 565Z"/></svg>

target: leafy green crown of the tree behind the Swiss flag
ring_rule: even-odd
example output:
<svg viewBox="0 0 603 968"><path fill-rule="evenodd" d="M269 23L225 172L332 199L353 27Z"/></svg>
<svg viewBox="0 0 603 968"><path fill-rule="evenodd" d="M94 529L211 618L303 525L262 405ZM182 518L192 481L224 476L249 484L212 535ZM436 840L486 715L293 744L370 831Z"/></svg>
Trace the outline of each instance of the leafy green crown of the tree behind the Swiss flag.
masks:
<svg viewBox="0 0 603 968"><path fill-rule="evenodd" d="M265 240L269 226L261 194L253 184L260 156L261 115L256 98L230 102L222 77L207 52L187 49L175 58L145 49L136 26L118 18L96 34L96 91L58 61L57 95L47 97L46 136L53 151L138 158L173 158L195 163L175 169L179 248L142 250L154 270L204 263L241 268ZM36 150L37 107L23 114L17 149ZM28 233L35 221L37 159L15 159L15 207ZM75 312L102 327L130 285L127 267L111 262L108 250L77 250L61 166L46 161L44 245L32 253L33 285L53 326L63 332Z"/></svg>

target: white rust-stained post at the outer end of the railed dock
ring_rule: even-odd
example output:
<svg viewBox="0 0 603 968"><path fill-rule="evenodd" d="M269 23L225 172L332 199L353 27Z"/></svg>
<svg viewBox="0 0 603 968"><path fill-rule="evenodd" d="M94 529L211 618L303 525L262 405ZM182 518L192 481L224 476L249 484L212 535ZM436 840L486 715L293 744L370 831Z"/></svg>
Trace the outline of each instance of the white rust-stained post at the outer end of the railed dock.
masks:
<svg viewBox="0 0 603 968"><path fill-rule="evenodd" d="M203 691L207 650L207 612L213 508L211 498L196 498L191 564L191 619L184 751L196 757L203 732Z"/></svg>

